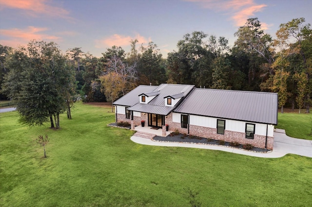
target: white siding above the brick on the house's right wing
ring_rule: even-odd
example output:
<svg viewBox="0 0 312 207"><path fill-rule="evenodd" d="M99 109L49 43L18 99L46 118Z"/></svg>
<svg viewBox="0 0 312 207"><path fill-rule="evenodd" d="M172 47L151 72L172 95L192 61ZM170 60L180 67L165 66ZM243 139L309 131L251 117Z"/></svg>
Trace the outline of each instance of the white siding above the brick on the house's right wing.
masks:
<svg viewBox="0 0 312 207"><path fill-rule="evenodd" d="M234 132L242 132L242 133L245 133L246 123L253 123L253 122L235 121L235 120L227 120L227 119L220 119L220 120L225 120L225 130L234 131ZM172 121L181 123L181 114L173 113ZM216 121L217 121L217 118L213 118L213 117L190 115L189 124L196 125L196 126L216 128ZM254 124L255 124L254 134L266 136L267 124L263 124L263 123L254 123ZM274 126L269 124L268 125L269 137L273 137L273 131L274 131Z"/></svg>

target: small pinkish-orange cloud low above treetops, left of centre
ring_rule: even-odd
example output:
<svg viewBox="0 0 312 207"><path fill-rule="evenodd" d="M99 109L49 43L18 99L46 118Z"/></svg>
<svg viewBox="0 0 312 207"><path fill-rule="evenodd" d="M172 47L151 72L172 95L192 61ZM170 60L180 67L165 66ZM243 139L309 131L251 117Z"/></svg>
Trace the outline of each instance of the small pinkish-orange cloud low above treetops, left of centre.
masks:
<svg viewBox="0 0 312 207"><path fill-rule="evenodd" d="M141 36L139 34L131 37L131 36L124 36L124 35L118 35L118 34L115 34L115 35L112 35L112 36L109 36L107 38L104 38L104 39L97 39L95 40L96 42L96 48L105 48L105 47L112 47L114 45L116 46L129 46L131 43L130 41L131 40L135 40L137 39L138 42L137 44L145 44L145 43L148 43L151 41L151 38L148 38L146 39L144 36Z"/></svg>

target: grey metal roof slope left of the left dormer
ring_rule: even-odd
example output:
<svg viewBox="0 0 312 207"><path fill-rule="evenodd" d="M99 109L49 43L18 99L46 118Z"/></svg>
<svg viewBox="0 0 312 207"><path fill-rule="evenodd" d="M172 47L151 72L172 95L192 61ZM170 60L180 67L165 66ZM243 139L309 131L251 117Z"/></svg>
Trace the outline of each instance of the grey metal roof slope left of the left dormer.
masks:
<svg viewBox="0 0 312 207"><path fill-rule="evenodd" d="M148 93L154 91L159 86L137 86L135 89L115 101L114 105L133 106L139 103L139 94Z"/></svg>

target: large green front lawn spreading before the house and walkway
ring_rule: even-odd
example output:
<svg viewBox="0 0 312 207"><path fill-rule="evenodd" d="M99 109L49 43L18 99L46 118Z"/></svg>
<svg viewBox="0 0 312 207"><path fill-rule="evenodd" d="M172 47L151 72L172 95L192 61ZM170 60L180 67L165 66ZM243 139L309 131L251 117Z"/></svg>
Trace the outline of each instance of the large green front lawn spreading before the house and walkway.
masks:
<svg viewBox="0 0 312 207"><path fill-rule="evenodd" d="M61 130L23 127L0 114L0 206L311 206L312 158L258 158L221 151L146 146L107 127L110 108L78 103ZM36 142L47 134L47 158Z"/></svg>

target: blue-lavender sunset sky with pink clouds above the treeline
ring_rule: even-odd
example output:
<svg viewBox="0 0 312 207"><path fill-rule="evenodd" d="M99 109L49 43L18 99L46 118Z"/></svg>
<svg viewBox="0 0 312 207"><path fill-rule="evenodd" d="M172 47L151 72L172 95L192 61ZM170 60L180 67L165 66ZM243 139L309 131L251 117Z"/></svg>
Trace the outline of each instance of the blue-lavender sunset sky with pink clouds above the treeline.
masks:
<svg viewBox="0 0 312 207"><path fill-rule="evenodd" d="M130 52L153 41L166 58L186 34L224 36L257 17L275 37L281 23L304 17L312 24L312 0L0 0L0 44L18 48L33 39L59 48L81 48L101 57L112 46Z"/></svg>

